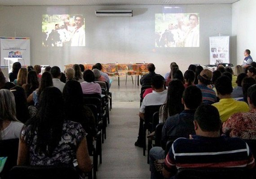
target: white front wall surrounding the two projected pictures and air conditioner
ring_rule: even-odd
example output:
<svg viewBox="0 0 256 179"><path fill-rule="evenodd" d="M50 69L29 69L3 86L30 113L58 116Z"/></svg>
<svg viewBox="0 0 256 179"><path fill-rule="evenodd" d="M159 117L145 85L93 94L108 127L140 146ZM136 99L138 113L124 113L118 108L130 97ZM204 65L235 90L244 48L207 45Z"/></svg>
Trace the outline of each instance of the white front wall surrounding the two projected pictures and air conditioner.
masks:
<svg viewBox="0 0 256 179"><path fill-rule="evenodd" d="M156 72L165 74L176 61L185 72L189 64L209 64L209 36L231 35L232 5L182 5L183 13L200 13L200 47L155 48L154 14L162 5L62 6L62 13L83 14L86 47L42 47L42 14L53 6L1 6L0 36L30 37L31 65L84 63L154 63ZM133 17L95 17L95 10L130 10ZM244 26L243 26L244 27ZM231 39L232 43L232 39ZM232 49L231 49L232 52ZM231 63L234 63L231 61Z"/></svg>

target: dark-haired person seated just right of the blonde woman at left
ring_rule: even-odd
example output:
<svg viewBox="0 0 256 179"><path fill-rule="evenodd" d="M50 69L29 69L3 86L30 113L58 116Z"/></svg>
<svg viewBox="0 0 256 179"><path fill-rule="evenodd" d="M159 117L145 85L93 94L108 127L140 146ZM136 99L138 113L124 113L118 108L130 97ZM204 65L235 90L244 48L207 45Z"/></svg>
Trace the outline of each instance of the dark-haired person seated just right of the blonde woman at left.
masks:
<svg viewBox="0 0 256 179"><path fill-rule="evenodd" d="M10 91L15 98L16 118L25 124L29 119L25 90L21 86L15 86Z"/></svg>

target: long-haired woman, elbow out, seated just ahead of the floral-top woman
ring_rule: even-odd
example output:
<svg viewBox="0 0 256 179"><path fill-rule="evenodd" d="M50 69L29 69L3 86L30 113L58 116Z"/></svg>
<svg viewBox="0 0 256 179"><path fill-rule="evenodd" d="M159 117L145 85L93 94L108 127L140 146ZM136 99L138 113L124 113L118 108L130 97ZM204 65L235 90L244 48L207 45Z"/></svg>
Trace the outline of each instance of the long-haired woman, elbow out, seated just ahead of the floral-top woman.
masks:
<svg viewBox="0 0 256 179"><path fill-rule="evenodd" d="M35 107L37 107L39 104L40 94L43 92L43 90L46 87L50 87L50 86L53 86L53 77L52 77L51 73L44 72L42 75L42 78L41 78L39 88L36 89L35 91L33 91L33 93L31 93L29 95L29 97L26 99L26 101L28 103L34 102Z"/></svg>

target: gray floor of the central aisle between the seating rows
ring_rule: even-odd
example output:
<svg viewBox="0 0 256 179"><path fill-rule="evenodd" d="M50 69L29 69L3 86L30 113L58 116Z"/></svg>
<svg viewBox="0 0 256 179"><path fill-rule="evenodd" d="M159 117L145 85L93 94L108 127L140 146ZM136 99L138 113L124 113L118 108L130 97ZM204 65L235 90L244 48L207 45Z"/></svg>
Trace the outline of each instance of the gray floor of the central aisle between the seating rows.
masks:
<svg viewBox="0 0 256 179"><path fill-rule="evenodd" d="M142 148L134 146L139 128L138 113L139 101L113 102L97 179L150 178L147 157L143 156Z"/></svg>

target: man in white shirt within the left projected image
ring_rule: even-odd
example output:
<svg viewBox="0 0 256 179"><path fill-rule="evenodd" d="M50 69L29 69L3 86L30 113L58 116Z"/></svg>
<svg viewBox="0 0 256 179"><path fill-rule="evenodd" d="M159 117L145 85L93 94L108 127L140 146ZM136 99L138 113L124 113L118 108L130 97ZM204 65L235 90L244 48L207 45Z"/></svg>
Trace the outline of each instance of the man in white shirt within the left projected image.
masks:
<svg viewBox="0 0 256 179"><path fill-rule="evenodd" d="M75 16L75 30L71 35L71 46L85 46L84 17Z"/></svg>

